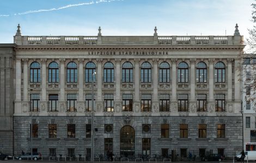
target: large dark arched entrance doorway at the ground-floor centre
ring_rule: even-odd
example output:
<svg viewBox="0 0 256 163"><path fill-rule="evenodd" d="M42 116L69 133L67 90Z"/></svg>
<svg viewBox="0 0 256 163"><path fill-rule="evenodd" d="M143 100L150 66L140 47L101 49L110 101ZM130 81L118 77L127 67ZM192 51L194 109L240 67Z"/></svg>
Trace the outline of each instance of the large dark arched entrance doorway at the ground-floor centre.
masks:
<svg viewBox="0 0 256 163"><path fill-rule="evenodd" d="M135 130L131 126L120 130L120 156L135 156Z"/></svg>

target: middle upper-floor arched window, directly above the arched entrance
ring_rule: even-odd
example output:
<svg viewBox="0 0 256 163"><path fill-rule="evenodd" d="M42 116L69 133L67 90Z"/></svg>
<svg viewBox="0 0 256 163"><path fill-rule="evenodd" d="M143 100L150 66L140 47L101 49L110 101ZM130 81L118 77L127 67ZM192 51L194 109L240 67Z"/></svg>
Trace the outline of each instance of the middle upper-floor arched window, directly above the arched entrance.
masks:
<svg viewBox="0 0 256 163"><path fill-rule="evenodd" d="M133 68L131 62L124 62L122 66L122 82L131 83L133 82Z"/></svg>

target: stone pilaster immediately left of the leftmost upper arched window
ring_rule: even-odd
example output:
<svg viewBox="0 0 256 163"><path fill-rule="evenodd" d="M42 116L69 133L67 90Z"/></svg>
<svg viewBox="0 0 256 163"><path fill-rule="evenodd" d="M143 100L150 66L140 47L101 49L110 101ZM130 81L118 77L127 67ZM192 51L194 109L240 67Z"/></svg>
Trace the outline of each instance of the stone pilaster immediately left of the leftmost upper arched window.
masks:
<svg viewBox="0 0 256 163"><path fill-rule="evenodd" d="M22 112L28 112L28 59L22 59L23 62L23 101Z"/></svg>

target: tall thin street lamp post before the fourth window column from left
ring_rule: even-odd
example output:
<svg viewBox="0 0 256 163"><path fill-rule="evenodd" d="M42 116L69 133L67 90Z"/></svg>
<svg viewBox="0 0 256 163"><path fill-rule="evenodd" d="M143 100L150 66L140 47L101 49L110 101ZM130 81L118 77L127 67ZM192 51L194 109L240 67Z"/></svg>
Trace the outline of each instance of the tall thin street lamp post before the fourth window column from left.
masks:
<svg viewBox="0 0 256 163"><path fill-rule="evenodd" d="M92 136L91 136L91 141L92 141L92 148L91 148L91 160L94 161L94 76L96 72L92 74Z"/></svg>

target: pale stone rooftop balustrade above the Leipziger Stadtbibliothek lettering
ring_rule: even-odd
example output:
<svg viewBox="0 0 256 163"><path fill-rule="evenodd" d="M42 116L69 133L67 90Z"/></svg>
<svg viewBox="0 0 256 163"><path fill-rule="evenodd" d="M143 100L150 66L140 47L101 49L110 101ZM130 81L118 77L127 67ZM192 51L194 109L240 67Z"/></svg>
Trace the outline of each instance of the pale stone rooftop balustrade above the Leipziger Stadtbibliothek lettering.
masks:
<svg viewBox="0 0 256 163"><path fill-rule="evenodd" d="M18 37L18 36L15 36ZM19 40L19 39L16 39ZM17 45L243 45L243 36L21 36Z"/></svg>

